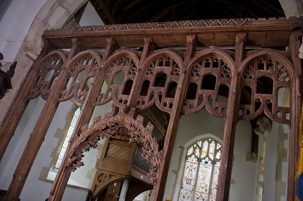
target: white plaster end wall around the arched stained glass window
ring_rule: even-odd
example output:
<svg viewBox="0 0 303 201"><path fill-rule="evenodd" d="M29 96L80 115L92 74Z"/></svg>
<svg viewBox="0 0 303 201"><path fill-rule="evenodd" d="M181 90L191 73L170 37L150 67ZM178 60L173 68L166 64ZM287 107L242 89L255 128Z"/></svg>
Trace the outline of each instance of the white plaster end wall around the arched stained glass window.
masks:
<svg viewBox="0 0 303 201"><path fill-rule="evenodd" d="M211 122L211 123L210 123ZM164 199L178 200L180 183L184 166L184 153L187 146L208 134L215 135L218 141L223 140L225 121L210 115L205 109L193 115L183 115L180 120L171 164L169 167ZM188 143L190 141L190 143ZM191 142L192 141L192 142ZM182 149L185 147L184 149ZM235 161L233 166L230 195L233 201L243 201L254 190L255 163L246 161L246 153L251 149L251 125L249 121L238 123L235 140ZM181 154L181 160L179 160ZM180 166L181 164L181 166ZM178 167L181 167L178 170ZM178 176L176 175L178 174ZM245 175L245 177L243 177ZM177 176L177 177L176 177ZM247 178L251 183L247 182ZM174 187L176 182L176 187Z"/></svg>

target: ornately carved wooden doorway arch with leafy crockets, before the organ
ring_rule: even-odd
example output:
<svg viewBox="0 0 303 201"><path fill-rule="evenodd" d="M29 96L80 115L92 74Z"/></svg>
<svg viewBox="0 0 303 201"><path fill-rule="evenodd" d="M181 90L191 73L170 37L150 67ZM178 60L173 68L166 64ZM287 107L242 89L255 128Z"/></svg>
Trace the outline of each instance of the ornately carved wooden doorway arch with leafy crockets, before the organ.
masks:
<svg viewBox="0 0 303 201"><path fill-rule="evenodd" d="M90 148L96 148L100 138L110 138L118 132L119 128L124 127L128 128L129 135L131 136L129 143L136 142L143 144L142 157L151 164L148 178L156 186L163 151L159 151L158 143L152 137L154 126L149 122L144 127L143 117L138 115L135 119L134 113L135 108L124 105L119 109L117 115L114 116L114 112L108 112L103 120L101 120L101 116L94 118L94 122L90 128L88 124L82 126L81 134L75 138L68 150L68 157L64 168L70 168L71 171L75 171L77 167L84 165L81 160L84 157L83 153L85 151L89 151Z"/></svg>

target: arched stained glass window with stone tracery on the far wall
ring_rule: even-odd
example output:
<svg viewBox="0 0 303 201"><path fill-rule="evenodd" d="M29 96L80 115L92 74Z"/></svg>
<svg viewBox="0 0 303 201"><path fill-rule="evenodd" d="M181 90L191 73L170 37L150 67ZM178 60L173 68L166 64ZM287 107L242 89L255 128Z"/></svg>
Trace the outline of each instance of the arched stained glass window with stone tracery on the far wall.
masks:
<svg viewBox="0 0 303 201"><path fill-rule="evenodd" d="M179 201L215 201L222 146L211 138L187 149Z"/></svg>

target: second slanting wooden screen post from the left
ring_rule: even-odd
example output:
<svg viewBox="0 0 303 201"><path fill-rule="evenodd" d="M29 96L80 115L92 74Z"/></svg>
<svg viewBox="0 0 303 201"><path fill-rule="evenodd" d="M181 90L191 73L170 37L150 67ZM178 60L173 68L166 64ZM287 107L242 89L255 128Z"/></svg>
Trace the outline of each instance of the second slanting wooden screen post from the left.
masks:
<svg viewBox="0 0 303 201"><path fill-rule="evenodd" d="M78 46L73 46L70 54L75 54L77 52L75 50L76 47ZM65 84L66 74L67 72L65 71L65 68L62 67L62 72L59 74L59 78L55 83L54 88L50 92L48 99L42 109L42 112L36 122L36 125L30 134L28 143L19 160L19 163L13 175L12 182L9 185L7 193L5 195L5 201L15 201L19 199L29 171L32 168L34 160L38 154L42 142L44 141L48 127L51 124L55 112L58 108L59 103L57 102L57 97L60 90L62 89L62 86Z"/></svg>

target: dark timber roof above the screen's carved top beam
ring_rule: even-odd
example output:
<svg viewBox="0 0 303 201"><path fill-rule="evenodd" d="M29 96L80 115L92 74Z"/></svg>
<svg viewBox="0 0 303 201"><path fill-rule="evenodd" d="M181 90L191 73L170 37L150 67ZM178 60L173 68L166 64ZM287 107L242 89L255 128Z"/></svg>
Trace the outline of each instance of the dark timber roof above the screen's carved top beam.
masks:
<svg viewBox="0 0 303 201"><path fill-rule="evenodd" d="M105 24L285 16L278 0L90 0L90 2Z"/></svg>

